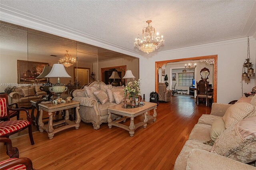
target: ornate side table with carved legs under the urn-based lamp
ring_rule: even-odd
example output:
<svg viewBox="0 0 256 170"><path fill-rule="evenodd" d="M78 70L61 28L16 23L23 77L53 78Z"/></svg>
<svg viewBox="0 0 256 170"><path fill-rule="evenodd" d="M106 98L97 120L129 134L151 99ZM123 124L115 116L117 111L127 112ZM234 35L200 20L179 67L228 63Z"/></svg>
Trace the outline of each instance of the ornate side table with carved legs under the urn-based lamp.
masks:
<svg viewBox="0 0 256 170"><path fill-rule="evenodd" d="M66 101L66 100L65 100ZM40 115L39 115L39 120L38 120L38 125L39 125L39 130L40 132L44 132L44 130L48 133L48 137L49 139L52 139L54 134L57 132L60 132L61 130L67 129L67 128L71 128L71 127L75 127L76 129L79 128L80 126L80 115L78 113L78 109L79 109L79 104L80 102L78 101L71 101L69 103L60 103L60 104L38 104L39 107L39 111L40 111ZM69 120L69 113L68 113L68 109L71 108L76 108L76 121L70 121ZM64 120L52 123L52 115L54 113L56 113L56 111L62 111L65 110L65 118ZM43 111L48 112L48 116L49 116L49 121L47 125L44 125L43 121L42 121L42 116L43 116ZM62 125L63 124L63 125ZM54 126L59 125L60 127L54 129Z"/></svg>

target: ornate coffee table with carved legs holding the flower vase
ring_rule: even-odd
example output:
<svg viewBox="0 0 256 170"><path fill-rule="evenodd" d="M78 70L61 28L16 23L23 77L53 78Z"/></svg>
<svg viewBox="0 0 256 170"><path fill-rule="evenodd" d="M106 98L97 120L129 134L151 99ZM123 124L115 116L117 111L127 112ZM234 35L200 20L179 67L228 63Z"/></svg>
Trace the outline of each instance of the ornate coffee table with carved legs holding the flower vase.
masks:
<svg viewBox="0 0 256 170"><path fill-rule="evenodd" d="M156 121L156 103L149 103L149 102L144 102L145 105L142 107L136 107L136 108L131 108L131 109L124 109L122 108L121 105L115 105L108 107L108 127L112 128L112 126L120 127L125 130L128 130L130 133L130 136L134 136L134 130L136 128L143 126L144 128L147 127L148 121L152 120L155 122ZM154 114L153 116L148 115L148 111L154 109ZM111 114L115 115L120 115L122 118L112 121L111 119ZM144 115L144 120L142 122L136 123L134 125L134 117L138 115ZM126 126L121 124L120 122L126 121L127 118L130 118L130 126Z"/></svg>

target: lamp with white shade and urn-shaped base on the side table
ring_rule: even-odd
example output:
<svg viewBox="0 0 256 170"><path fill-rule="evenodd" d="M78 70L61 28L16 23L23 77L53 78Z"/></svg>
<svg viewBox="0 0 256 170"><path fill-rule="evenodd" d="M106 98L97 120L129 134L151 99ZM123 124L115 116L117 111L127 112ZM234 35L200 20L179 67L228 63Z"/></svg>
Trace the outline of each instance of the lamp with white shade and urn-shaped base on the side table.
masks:
<svg viewBox="0 0 256 170"><path fill-rule="evenodd" d="M52 66L52 70L48 75L45 76L46 78L58 78L57 83L52 85L52 87L49 87L50 92L56 93L57 98L60 98L60 95L67 91L68 87L66 87L64 84L60 83L60 77L71 77L66 72L64 65L62 64L54 64Z"/></svg>

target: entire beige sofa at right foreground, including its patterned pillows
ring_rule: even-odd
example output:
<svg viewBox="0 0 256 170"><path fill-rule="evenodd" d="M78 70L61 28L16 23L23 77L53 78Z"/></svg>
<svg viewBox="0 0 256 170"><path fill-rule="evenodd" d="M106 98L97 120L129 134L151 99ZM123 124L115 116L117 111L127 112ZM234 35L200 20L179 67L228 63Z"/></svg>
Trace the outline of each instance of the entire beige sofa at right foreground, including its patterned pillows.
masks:
<svg viewBox="0 0 256 170"><path fill-rule="evenodd" d="M239 128L238 126L241 123L243 123L244 121L253 122L253 127L251 127L251 129L255 130L256 132L255 105L252 106L252 111L249 114L241 117L242 121L238 121L238 119L231 119L231 121L226 121L226 118L223 119L223 117L227 117L228 115L226 111L229 113L232 112L232 109L235 112L238 111L231 106L233 105L213 103L210 115L202 115L202 117L200 117L198 123L194 126L188 140L184 144L182 151L176 159L174 166L175 170L256 169L254 167L256 160L256 133L253 134L254 137L250 138L253 140L250 141L250 144L242 144L235 147L236 139L241 140L238 136L238 134L240 135L241 130L236 132L237 128ZM243 109L246 110L248 109L248 107L243 106L240 111ZM234 118L234 115L232 116L232 118ZM224 120L226 121L226 123L224 122ZM234 124L237 121L238 123ZM248 125L249 123L246 124ZM227 127L227 125L229 126ZM230 137L232 135L236 136L236 138ZM215 142L213 140L215 140ZM224 142L221 143L221 141L223 140ZM211 146L212 144L213 146ZM235 149L232 147L234 147ZM242 152L245 152L245 154ZM251 160L246 160L246 158L249 158Z"/></svg>

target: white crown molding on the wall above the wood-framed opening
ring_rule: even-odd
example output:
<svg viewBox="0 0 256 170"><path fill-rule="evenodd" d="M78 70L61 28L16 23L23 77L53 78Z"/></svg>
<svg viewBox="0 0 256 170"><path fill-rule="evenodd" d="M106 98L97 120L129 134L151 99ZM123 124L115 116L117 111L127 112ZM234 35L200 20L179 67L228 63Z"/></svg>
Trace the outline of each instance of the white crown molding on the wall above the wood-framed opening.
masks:
<svg viewBox="0 0 256 170"><path fill-rule="evenodd" d="M254 37L249 37L250 42L255 41ZM155 51L153 53L148 54L142 54L141 57L152 57L154 55L162 55L162 54L168 54L168 53L174 53L179 51L187 51L187 50L193 50L193 49L200 49L200 48L206 48L206 47L214 47L214 46L220 46L220 45L227 45L232 43L241 43L241 42L247 42L247 37L243 38L236 38L236 39L227 39L217 42L209 42L209 43L200 43L200 44L194 44L194 45L188 45L185 47L177 47L173 49L168 50L162 50L162 51Z"/></svg>

